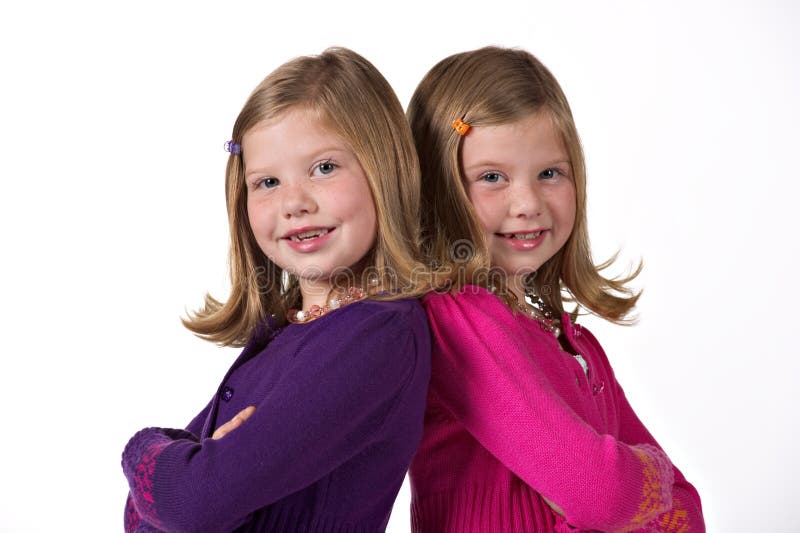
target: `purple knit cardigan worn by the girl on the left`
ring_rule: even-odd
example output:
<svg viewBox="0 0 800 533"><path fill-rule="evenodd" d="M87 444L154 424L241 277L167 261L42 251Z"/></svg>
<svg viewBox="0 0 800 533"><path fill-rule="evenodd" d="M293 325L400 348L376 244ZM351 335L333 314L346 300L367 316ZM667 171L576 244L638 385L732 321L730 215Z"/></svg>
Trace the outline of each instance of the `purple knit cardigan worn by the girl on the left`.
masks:
<svg viewBox="0 0 800 533"><path fill-rule="evenodd" d="M384 531L429 377L417 300L364 300L260 329L186 430L129 441L126 531ZM209 438L250 405L242 426Z"/></svg>

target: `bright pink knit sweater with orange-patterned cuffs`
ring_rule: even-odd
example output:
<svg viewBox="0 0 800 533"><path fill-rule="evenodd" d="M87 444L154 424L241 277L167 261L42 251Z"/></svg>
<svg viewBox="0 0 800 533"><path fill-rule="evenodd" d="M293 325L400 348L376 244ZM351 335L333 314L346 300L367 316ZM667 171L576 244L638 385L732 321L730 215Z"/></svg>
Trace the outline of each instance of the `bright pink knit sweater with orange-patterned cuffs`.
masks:
<svg viewBox="0 0 800 533"><path fill-rule="evenodd" d="M423 304L432 377L410 470L413 531L705 531L697 491L636 417L588 330L564 315L586 373L552 333L484 289Z"/></svg>

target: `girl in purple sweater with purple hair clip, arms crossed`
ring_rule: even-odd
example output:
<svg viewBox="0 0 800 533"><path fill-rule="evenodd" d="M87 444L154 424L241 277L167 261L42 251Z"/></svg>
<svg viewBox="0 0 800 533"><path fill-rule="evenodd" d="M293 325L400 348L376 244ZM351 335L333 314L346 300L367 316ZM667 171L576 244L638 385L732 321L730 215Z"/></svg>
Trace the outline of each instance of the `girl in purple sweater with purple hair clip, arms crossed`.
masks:
<svg viewBox="0 0 800 533"><path fill-rule="evenodd" d="M384 531L430 371L402 108L329 49L256 87L226 148L231 294L185 325L244 350L186 429L125 447L125 530Z"/></svg>

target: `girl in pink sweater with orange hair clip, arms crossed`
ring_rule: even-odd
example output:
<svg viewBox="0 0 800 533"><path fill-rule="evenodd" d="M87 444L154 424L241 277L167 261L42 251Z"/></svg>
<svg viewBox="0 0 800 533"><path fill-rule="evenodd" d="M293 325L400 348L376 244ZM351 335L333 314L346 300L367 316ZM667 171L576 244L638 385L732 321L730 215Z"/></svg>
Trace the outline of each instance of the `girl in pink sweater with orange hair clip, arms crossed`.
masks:
<svg viewBox="0 0 800 533"><path fill-rule="evenodd" d="M527 52L450 56L408 110L440 286L416 532L704 531L700 498L625 399L578 309L630 322L637 274L592 262L569 104ZM564 301L575 302L571 314Z"/></svg>

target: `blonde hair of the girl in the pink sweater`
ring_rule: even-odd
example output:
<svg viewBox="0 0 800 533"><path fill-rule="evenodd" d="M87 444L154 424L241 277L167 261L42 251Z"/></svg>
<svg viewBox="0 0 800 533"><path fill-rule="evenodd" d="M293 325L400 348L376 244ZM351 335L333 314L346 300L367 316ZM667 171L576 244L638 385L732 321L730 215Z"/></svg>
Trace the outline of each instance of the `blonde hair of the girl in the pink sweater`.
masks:
<svg viewBox="0 0 800 533"><path fill-rule="evenodd" d="M444 285L454 288L466 282L488 286L493 278L487 243L464 187L459 162L461 135L453 129L453 121L461 119L472 127L500 125L540 112L550 116L569 155L576 215L566 244L529 283L559 314L565 300L575 301L609 321L630 323L628 314L640 293L626 284L639 274L641 263L628 276L609 279L600 271L610 266L616 255L600 265L592 262L586 168L572 112L555 77L523 50L486 47L447 57L425 75L411 98L407 115L424 191L422 245L438 267L437 284L443 285L445 278ZM467 246L473 249L465 250Z"/></svg>

